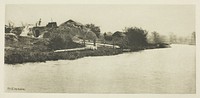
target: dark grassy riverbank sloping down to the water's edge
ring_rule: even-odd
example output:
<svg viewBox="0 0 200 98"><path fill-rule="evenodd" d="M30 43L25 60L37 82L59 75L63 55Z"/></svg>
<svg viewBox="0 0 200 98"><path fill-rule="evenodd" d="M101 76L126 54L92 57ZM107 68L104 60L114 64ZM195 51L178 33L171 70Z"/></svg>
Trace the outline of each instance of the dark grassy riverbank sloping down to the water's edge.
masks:
<svg viewBox="0 0 200 98"><path fill-rule="evenodd" d="M10 38L10 37L8 37ZM72 45L73 44L73 45ZM45 62L50 60L75 60L87 56L108 56L122 54L123 52L136 52L145 49L163 48L155 44L148 44L143 47L129 47L127 49L98 46L98 49L82 49L75 51L55 52L48 47L47 39L18 37L16 41L6 39L4 62L6 64L18 64L26 62ZM78 43L71 43L69 49L83 48ZM112 46L112 45L111 45Z"/></svg>

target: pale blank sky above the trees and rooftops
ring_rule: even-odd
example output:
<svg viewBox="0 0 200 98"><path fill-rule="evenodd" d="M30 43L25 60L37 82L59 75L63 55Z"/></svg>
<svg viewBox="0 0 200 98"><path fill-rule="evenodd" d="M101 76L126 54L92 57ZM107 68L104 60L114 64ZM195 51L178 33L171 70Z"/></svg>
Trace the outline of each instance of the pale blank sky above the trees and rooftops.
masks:
<svg viewBox="0 0 200 98"><path fill-rule="evenodd" d="M135 26L163 35L195 31L194 5L7 5L5 15L6 24L12 21L15 26L35 24L40 18L46 25L52 18L58 25L69 19L93 23L102 33Z"/></svg>

